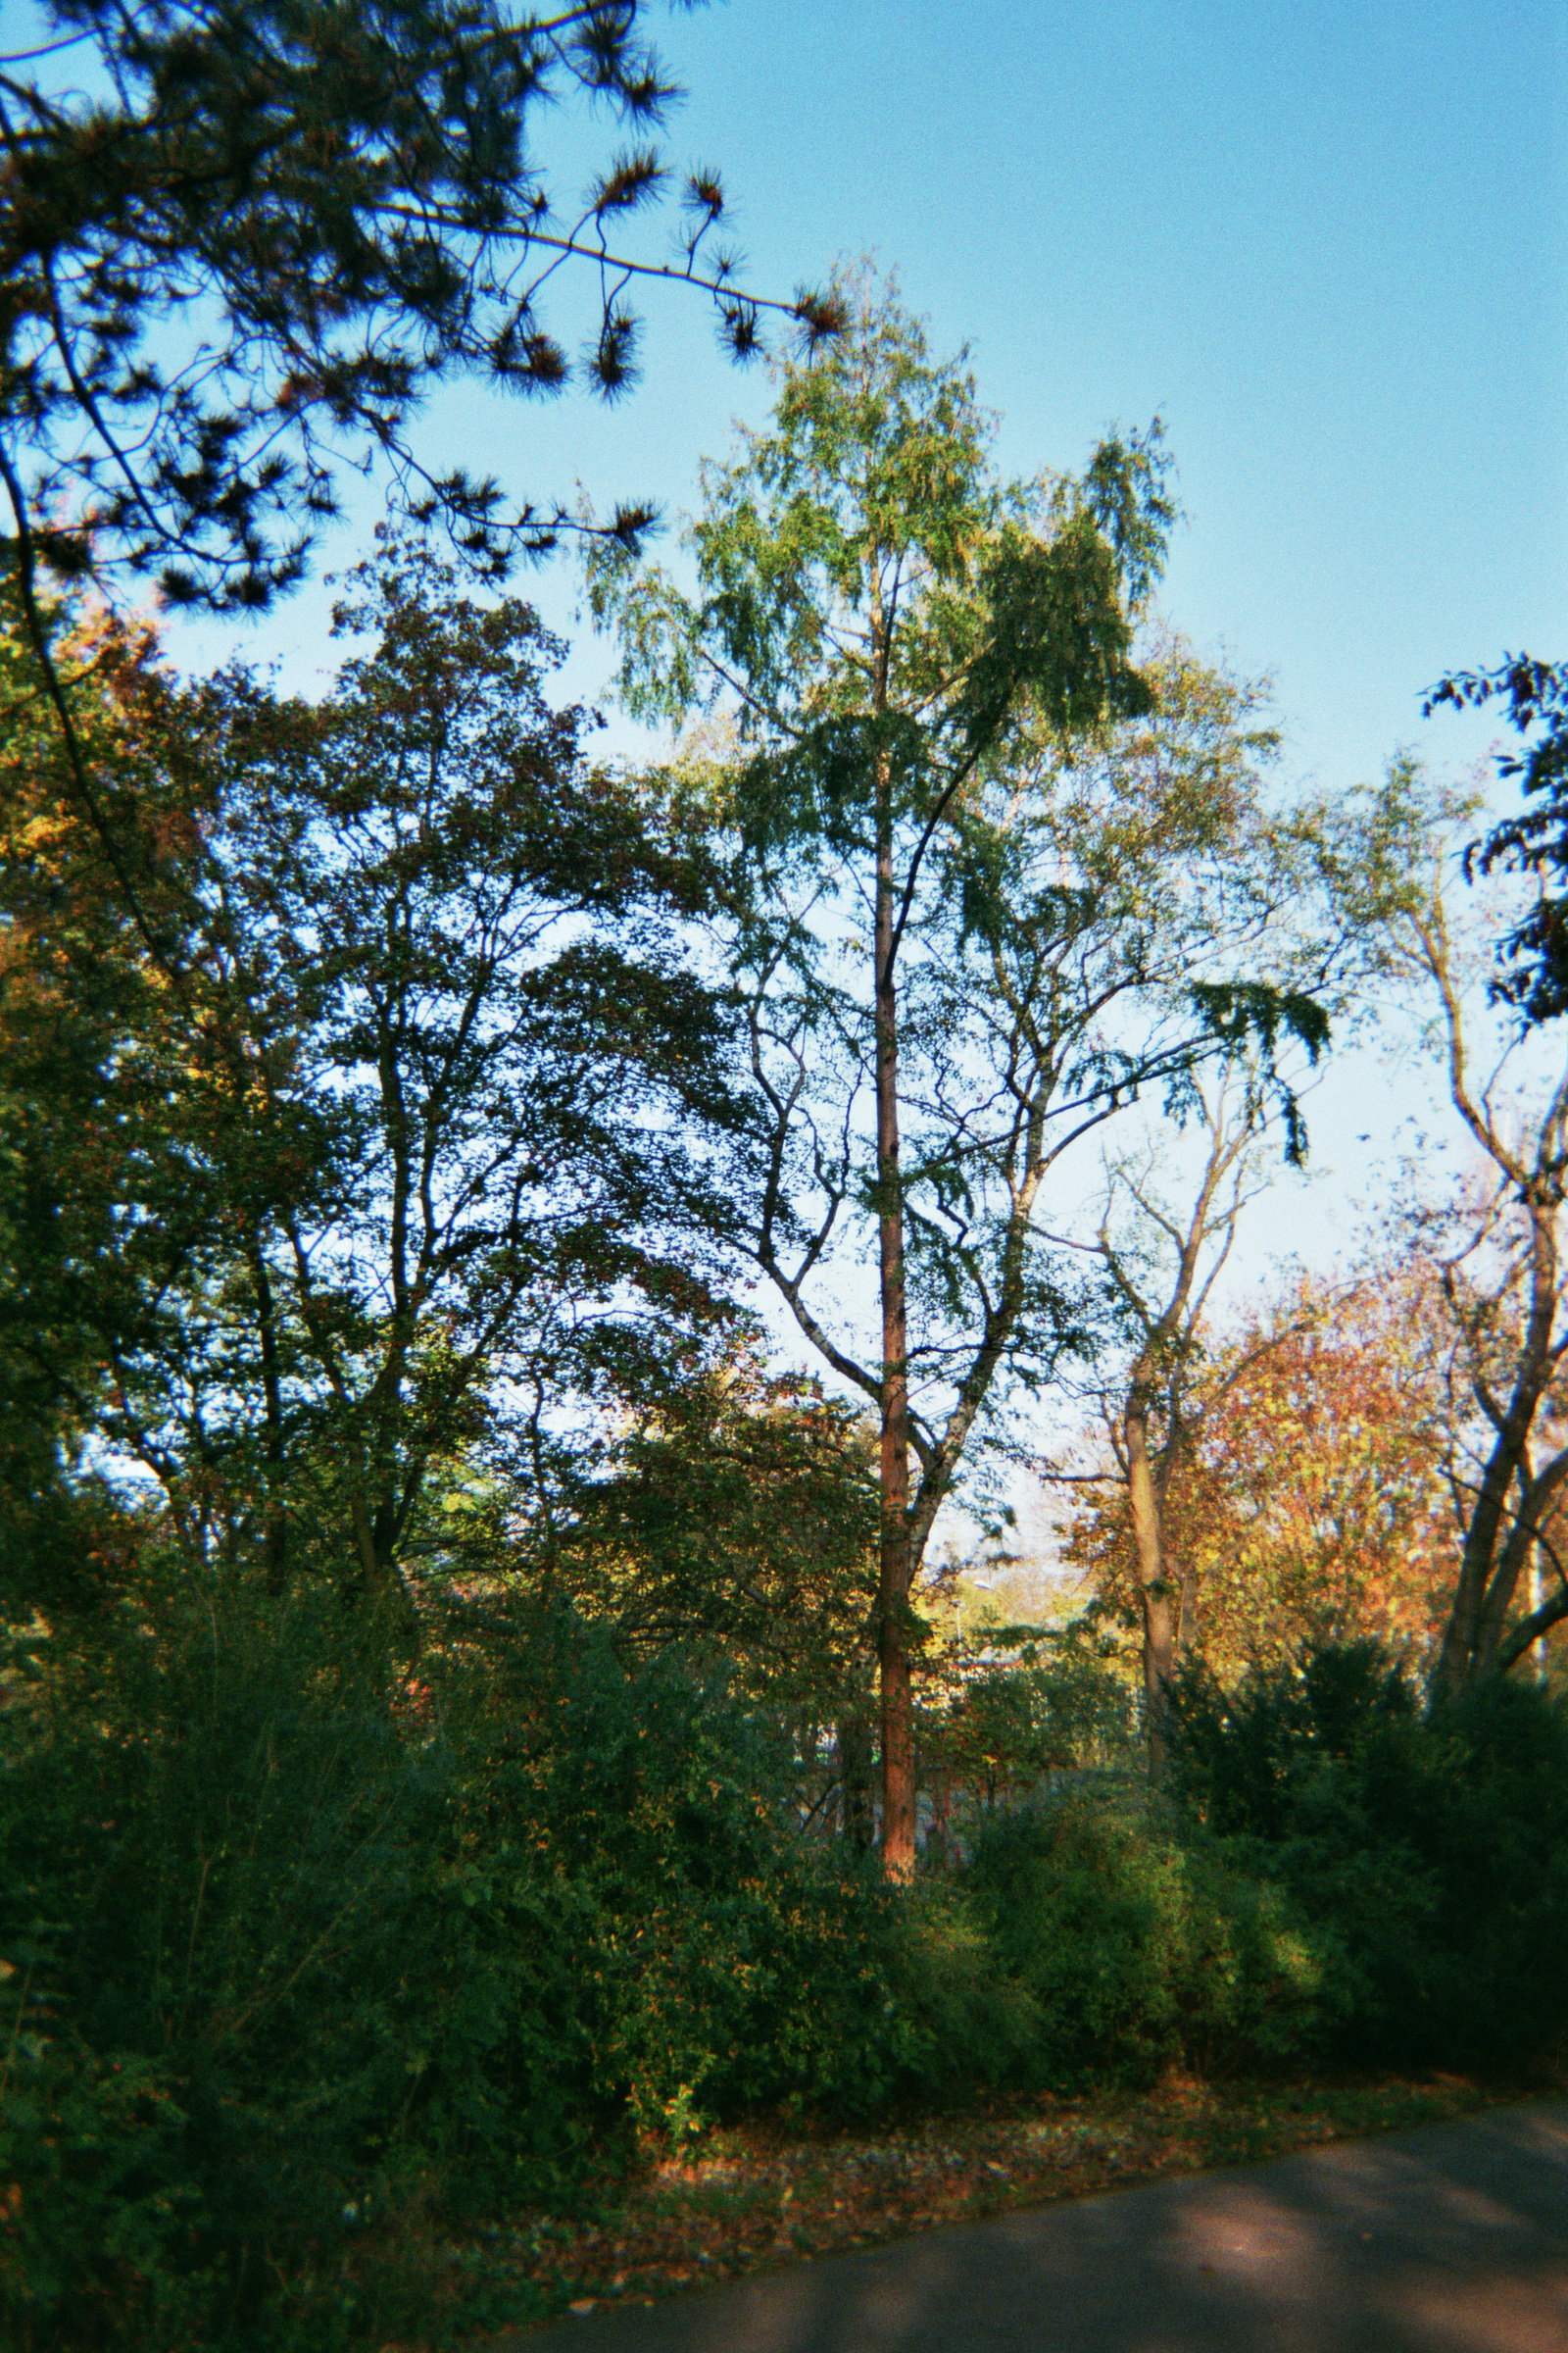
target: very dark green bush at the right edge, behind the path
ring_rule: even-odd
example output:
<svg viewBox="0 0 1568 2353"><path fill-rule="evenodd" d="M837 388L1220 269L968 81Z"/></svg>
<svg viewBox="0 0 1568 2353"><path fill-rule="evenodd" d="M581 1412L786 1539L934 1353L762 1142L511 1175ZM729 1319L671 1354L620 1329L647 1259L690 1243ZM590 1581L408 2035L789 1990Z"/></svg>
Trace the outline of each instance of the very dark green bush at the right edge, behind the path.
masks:
<svg viewBox="0 0 1568 2353"><path fill-rule="evenodd" d="M1420 1711L1371 1645L1187 1680L1173 1784L1331 1955L1331 2045L1533 2071L1561 2054L1568 1711L1490 1678Z"/></svg>

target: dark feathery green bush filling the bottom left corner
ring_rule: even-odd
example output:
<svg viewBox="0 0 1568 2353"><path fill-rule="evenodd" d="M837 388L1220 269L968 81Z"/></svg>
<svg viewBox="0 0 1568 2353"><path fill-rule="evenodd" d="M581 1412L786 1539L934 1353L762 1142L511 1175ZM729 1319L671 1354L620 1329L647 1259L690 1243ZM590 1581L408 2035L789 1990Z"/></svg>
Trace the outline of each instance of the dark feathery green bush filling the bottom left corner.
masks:
<svg viewBox="0 0 1568 2353"><path fill-rule="evenodd" d="M7 2299L40 2346L270 2332L508 2031L447 1899L449 1772L362 1647L153 1607L52 1675L0 1779Z"/></svg>

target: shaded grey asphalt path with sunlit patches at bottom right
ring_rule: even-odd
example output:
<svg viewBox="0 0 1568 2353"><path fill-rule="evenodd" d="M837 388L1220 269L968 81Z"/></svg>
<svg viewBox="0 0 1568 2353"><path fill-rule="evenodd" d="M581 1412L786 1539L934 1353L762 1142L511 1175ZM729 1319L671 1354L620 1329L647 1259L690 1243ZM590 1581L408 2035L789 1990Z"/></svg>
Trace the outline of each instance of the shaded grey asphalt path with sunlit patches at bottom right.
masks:
<svg viewBox="0 0 1568 2353"><path fill-rule="evenodd" d="M954 2224L529 2353L1568 2353L1568 2101Z"/></svg>

